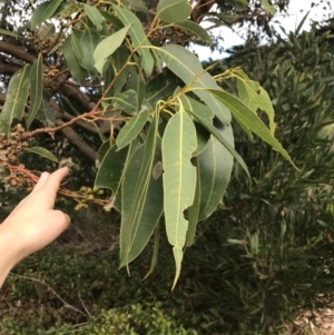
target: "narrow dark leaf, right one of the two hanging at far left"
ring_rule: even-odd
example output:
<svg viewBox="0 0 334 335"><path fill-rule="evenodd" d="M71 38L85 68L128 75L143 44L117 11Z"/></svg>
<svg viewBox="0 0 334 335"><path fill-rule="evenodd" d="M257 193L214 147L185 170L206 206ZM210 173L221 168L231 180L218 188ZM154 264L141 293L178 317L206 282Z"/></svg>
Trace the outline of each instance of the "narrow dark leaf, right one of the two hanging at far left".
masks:
<svg viewBox="0 0 334 335"><path fill-rule="evenodd" d="M27 129L30 128L31 122L38 112L42 100L42 89L43 89L42 72L43 72L43 57L40 53L30 70L30 108L26 120Z"/></svg>

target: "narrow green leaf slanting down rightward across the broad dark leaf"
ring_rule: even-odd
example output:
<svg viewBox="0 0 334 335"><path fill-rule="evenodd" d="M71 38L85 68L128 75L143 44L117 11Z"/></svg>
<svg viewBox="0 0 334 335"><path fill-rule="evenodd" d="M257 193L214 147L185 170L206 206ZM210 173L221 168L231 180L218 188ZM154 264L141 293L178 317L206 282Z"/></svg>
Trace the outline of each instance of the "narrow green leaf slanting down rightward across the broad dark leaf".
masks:
<svg viewBox="0 0 334 335"><path fill-rule="evenodd" d="M213 121L207 117L204 116L202 112L200 105L194 105L191 104L191 100L186 97L181 96L180 97L185 109L199 122L206 130L208 130L210 134L213 134L219 141L220 144L234 156L234 158L237 160L237 162L243 167L247 176L250 178L248 168L244 161L244 159L240 157L240 155L230 146L230 144L225 139L225 137L222 136L222 134L217 130L216 127L214 127ZM188 100L188 101L187 101Z"/></svg>

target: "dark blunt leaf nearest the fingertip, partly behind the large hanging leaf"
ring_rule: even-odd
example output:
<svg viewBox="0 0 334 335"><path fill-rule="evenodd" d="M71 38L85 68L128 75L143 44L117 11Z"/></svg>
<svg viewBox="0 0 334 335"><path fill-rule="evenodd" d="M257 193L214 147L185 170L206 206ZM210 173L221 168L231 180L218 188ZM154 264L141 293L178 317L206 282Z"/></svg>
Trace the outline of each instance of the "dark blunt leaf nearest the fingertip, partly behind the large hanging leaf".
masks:
<svg viewBox="0 0 334 335"><path fill-rule="evenodd" d="M127 147L122 150L117 150L116 145L109 147L109 141L106 144L107 152L104 152L102 155L102 159L96 175L95 186L111 189L112 196L115 197L114 207L120 211L120 185L124 178L125 167L130 157L130 149ZM106 144L104 144L101 148L105 147Z"/></svg>

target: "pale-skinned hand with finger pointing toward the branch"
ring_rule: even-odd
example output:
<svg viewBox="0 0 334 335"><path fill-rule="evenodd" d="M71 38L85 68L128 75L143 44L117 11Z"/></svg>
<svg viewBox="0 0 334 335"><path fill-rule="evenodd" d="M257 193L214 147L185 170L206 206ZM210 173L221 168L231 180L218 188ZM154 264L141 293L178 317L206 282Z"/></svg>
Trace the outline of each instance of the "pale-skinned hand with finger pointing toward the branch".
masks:
<svg viewBox="0 0 334 335"><path fill-rule="evenodd" d="M30 195L0 225L0 287L20 260L46 247L69 226L69 216L53 209L68 173L68 168L43 173Z"/></svg>

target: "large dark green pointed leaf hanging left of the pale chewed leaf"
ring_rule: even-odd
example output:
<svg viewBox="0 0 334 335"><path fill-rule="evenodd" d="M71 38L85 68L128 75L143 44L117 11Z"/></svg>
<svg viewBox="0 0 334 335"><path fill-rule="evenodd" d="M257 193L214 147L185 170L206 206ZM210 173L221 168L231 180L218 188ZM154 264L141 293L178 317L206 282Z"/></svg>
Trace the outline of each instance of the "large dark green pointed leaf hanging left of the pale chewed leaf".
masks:
<svg viewBox="0 0 334 335"><path fill-rule="evenodd" d="M120 266L128 265L147 245L163 214L163 178L153 178L161 160L158 114L149 127L146 144L132 155L121 188Z"/></svg>

